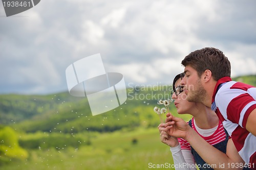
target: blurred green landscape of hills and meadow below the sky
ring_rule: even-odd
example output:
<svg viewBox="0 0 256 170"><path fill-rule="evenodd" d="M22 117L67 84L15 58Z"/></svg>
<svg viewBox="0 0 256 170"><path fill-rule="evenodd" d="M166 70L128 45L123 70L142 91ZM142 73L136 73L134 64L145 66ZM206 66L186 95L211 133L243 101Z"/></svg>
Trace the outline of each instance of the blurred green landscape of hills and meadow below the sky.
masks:
<svg viewBox="0 0 256 170"><path fill-rule="evenodd" d="M256 86L256 75L233 80ZM169 147L160 141L159 115L153 111L159 99L170 98L171 90L167 85L129 88L123 105L96 116L92 116L87 98L68 92L1 94L0 169L150 169L149 164L172 165ZM170 112L185 120L191 118L178 115L173 103Z"/></svg>

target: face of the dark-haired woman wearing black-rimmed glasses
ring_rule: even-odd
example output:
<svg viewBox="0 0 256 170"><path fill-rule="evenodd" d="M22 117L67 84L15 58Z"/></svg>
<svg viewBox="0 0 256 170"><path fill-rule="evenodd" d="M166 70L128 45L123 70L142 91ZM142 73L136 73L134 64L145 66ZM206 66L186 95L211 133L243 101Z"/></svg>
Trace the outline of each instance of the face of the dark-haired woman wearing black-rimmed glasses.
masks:
<svg viewBox="0 0 256 170"><path fill-rule="evenodd" d="M175 83L175 88L180 86L181 79L178 79ZM176 95L173 93L172 99L174 99L174 105L177 109L177 112L179 114L187 114L189 113L189 110L191 107L195 106L195 103L188 102L186 100L187 95L185 94L184 91L182 91L180 94Z"/></svg>

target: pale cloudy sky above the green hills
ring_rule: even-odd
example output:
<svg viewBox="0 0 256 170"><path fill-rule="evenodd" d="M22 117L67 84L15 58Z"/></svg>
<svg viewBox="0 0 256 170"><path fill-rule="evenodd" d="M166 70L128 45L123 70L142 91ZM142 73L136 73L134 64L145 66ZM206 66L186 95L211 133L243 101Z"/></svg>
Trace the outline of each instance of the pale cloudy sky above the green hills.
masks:
<svg viewBox="0 0 256 170"><path fill-rule="evenodd" d="M41 0L6 17L0 4L0 93L67 90L65 70L100 53L126 84L171 83L181 60L206 46L231 76L256 74L256 1Z"/></svg>

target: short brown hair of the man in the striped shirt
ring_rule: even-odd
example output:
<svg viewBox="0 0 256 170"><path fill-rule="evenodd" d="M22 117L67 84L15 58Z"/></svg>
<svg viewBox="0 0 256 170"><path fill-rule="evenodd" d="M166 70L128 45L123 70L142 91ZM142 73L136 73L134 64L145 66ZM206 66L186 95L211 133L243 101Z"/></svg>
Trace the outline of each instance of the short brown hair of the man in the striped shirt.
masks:
<svg viewBox="0 0 256 170"><path fill-rule="evenodd" d="M187 55L181 64L191 66L197 70L200 77L206 69L211 71L214 80L218 81L223 77L230 77L231 65L222 51L214 47L205 47Z"/></svg>

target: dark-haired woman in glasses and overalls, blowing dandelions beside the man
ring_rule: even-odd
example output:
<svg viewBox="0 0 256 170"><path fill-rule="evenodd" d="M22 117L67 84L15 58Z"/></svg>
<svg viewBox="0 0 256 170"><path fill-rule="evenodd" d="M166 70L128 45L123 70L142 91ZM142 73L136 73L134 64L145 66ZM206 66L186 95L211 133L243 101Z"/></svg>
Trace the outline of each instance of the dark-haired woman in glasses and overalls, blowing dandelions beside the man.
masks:
<svg viewBox="0 0 256 170"><path fill-rule="evenodd" d="M186 94L183 92L180 85L182 74L177 75L173 81L173 94L172 98L175 100L174 104L179 114L191 114L192 119L188 124L193 128L205 141L210 145L224 153L233 162L244 163L239 156L232 139L229 139L228 134L222 126L218 116L210 108L206 107L202 103L192 103L186 100ZM170 114L166 114L168 117ZM197 169L195 164L200 169L228 169L226 166L220 166L220 162L208 161L207 163L201 158L201 156L193 149L186 140L182 138L176 138L168 135L164 124L158 126L161 135L161 141L170 146L176 169ZM207 153L207 150L205 151ZM207 153L210 154L210 153ZM186 163L186 164L185 164ZM186 165L186 166L180 166ZM216 165L216 166L215 166ZM181 168L180 168L181 167ZM231 169L231 166L229 167ZM237 169L243 169L238 167ZM244 168L245 169L245 168ZM247 168L248 169L248 168Z"/></svg>

